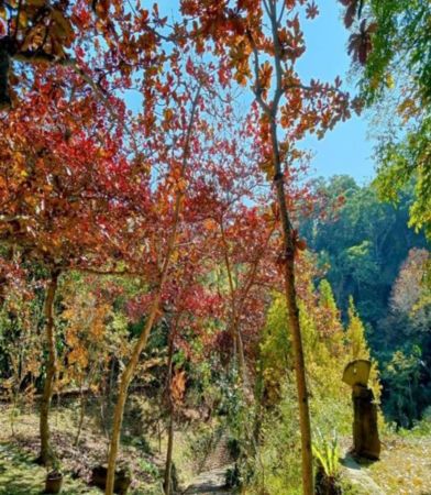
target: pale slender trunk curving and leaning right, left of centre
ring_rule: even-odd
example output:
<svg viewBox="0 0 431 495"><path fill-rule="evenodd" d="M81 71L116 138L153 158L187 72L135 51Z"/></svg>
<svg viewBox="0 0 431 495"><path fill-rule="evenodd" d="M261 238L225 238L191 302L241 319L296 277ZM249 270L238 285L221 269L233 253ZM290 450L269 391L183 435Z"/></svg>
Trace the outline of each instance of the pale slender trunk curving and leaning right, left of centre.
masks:
<svg viewBox="0 0 431 495"><path fill-rule="evenodd" d="M190 120L186 133L186 142L184 146L184 154L183 154L183 164L181 164L181 174L180 177L184 178L186 166L190 153L190 139L192 133L192 127L195 123L195 117L196 111L198 107L198 101L200 97L200 90L201 86L199 86L194 102L191 107L190 112ZM174 224L173 230L170 232L170 235L167 240L167 246L166 246L166 253L165 258L163 261L163 266L161 271L161 278L158 282L158 287L156 289L156 293L154 295L154 299L152 302L152 306L150 308L148 319L146 320L145 327L143 331L141 332L141 336L139 337L133 351L130 361L128 362L121 378L120 378L120 385L119 385L119 394L118 399L115 404L114 415L113 415L113 424L112 424L112 435L111 435L111 443L109 448L109 455L108 455L108 476L107 476L107 487L106 487L106 495L113 495L113 485L115 480L115 464L117 464L117 457L118 451L120 447L120 435L121 435L121 426L123 422L123 414L124 414L124 406L125 400L128 398L128 391L129 386L132 382L134 372L136 370L140 355L142 351L144 350L146 342L148 340L150 333L153 328L154 320L156 319L158 307L162 299L162 290L164 288L165 282L167 279L167 271L170 263L172 253L174 251L175 241L177 238L177 230L178 230L178 223L179 223L179 217L180 217L180 210L181 210L181 202L183 202L183 196L184 193L181 189L178 189L176 200L175 200L175 207L174 207Z"/></svg>

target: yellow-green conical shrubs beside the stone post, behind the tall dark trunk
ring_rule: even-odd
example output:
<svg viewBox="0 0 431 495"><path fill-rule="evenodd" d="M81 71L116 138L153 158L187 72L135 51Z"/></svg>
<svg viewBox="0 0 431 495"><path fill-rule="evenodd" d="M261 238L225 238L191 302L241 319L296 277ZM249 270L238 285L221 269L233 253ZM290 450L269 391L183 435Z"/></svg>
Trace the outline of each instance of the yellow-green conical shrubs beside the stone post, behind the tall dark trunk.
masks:
<svg viewBox="0 0 431 495"><path fill-rule="evenodd" d="M336 435L351 435L352 428L351 389L341 378L345 364L354 355L368 358L369 350L353 301L350 302L350 323L344 330L329 282L321 280L316 290L307 277L310 274L303 270L299 280L299 307L311 419L313 429L318 431L313 451L328 474L325 482L330 480L336 486ZM250 483L250 493L253 494L300 493L300 442L291 349L287 348L287 355L279 349L287 331L285 301L275 295L259 346L264 392L259 396L263 406L258 416L259 441ZM270 360L272 355L277 360ZM378 391L377 371L374 373Z"/></svg>

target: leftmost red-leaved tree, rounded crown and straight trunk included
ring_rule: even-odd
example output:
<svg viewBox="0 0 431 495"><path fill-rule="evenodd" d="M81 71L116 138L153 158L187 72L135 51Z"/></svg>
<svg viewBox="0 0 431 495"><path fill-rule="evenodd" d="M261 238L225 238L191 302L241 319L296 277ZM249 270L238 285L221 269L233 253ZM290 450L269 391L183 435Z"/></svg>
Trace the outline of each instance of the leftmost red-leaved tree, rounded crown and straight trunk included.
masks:
<svg viewBox="0 0 431 495"><path fill-rule="evenodd" d="M104 266L121 252L120 232L130 206L126 184L133 172L121 146L122 132L111 132L104 106L68 69L47 76L35 74L21 105L0 122L0 241L47 274L44 464L51 451L57 280L63 271Z"/></svg>

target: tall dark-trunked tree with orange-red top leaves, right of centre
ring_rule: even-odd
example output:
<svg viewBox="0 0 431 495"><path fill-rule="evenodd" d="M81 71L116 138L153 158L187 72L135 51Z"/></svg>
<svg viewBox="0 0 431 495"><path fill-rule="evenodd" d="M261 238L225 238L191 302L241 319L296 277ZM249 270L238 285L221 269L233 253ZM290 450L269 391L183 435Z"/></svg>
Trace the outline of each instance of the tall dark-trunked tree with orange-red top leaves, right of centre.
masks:
<svg viewBox="0 0 431 495"><path fill-rule="evenodd" d="M313 493L311 431L303 351L295 286L295 254L299 248L286 198L286 174L295 160L296 144L306 133L322 136L349 117L346 95L334 85L301 81L297 62L306 51L299 12L317 14L314 2L296 0L184 0L185 15L194 16L191 35L197 50L211 50L220 59L220 78L247 85L261 108L263 164L272 170L278 202L289 328L292 336L302 439L303 493ZM280 133L284 130L284 134Z"/></svg>

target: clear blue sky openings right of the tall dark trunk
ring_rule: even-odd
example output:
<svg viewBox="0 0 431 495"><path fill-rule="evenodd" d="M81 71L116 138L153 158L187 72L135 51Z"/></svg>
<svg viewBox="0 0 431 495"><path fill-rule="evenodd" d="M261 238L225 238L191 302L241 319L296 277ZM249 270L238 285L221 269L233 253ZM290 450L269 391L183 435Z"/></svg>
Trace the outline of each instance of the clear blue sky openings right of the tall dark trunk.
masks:
<svg viewBox="0 0 431 495"><path fill-rule="evenodd" d="M349 32L341 20L341 4L338 0L318 2L320 15L303 24L307 52L300 61L301 75L308 78L333 80L338 75L346 85L350 57L346 53ZM321 141L308 139L306 145L314 153L312 168L316 175L331 176L349 174L363 183L374 173L373 143L367 140L368 123L365 117L352 116L327 133ZM314 175L313 174L313 175Z"/></svg>

